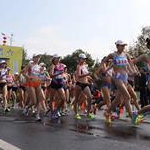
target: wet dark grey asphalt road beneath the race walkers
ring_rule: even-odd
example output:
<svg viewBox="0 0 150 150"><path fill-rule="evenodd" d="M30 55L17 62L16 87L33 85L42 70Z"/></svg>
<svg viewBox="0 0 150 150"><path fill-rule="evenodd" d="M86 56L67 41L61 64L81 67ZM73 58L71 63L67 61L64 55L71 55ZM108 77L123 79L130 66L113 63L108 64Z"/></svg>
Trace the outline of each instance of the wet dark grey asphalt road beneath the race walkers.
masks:
<svg viewBox="0 0 150 150"><path fill-rule="evenodd" d="M128 120L115 120L112 126L106 126L100 115L89 121L75 120L72 113L60 120L44 117L36 122L34 117L24 117L21 111L14 110L6 115L0 113L1 149L149 150L150 124L133 126Z"/></svg>

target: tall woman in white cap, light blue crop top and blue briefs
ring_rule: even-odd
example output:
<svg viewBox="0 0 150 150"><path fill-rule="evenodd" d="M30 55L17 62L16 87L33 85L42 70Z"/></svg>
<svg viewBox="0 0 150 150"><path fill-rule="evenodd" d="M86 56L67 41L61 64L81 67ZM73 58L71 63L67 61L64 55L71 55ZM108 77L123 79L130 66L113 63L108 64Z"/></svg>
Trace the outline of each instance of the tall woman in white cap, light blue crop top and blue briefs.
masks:
<svg viewBox="0 0 150 150"><path fill-rule="evenodd" d="M112 102L111 106L105 112L106 123L111 123L111 111L114 110L120 103L120 97L123 97L125 102L126 110L132 119L132 110L130 106L130 94L127 89L128 84L128 69L130 63L130 58L126 54L125 46L127 45L121 40L118 40L116 43L117 51L109 54L103 62L107 62L108 60L113 60L113 69L115 72L114 81L115 86L117 87L116 91L116 99Z"/></svg>

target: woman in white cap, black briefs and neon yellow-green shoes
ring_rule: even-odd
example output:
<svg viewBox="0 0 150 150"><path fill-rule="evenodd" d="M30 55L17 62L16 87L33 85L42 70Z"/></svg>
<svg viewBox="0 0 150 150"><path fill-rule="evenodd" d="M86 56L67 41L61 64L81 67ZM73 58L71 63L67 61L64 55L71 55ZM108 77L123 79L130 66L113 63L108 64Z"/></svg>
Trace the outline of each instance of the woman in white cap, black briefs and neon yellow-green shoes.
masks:
<svg viewBox="0 0 150 150"><path fill-rule="evenodd" d="M74 100L74 111L75 111L75 118L81 119L80 114L78 113L78 104L79 104L79 97L81 94L84 94L87 99L87 118L95 119L94 115L90 113L91 111L91 101L92 101L92 94L89 88L89 78L90 72L88 71L88 65L86 63L86 55L80 54L79 55L79 63L77 65L76 70L76 87L75 87L75 100Z"/></svg>

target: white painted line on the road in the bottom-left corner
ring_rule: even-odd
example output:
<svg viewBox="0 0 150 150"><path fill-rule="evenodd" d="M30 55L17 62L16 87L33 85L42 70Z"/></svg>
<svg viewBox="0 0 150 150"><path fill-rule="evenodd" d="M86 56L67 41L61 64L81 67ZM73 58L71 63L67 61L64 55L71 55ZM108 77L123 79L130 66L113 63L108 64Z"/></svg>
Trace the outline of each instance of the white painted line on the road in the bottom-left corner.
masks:
<svg viewBox="0 0 150 150"><path fill-rule="evenodd" d="M0 139L0 148L3 150L21 150L20 148Z"/></svg>

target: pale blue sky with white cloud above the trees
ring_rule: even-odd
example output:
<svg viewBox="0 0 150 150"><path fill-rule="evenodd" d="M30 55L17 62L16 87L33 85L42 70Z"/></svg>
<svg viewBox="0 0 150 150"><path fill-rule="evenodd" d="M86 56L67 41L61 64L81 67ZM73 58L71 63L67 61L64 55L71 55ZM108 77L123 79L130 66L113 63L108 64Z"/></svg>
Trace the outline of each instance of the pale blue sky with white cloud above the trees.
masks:
<svg viewBox="0 0 150 150"><path fill-rule="evenodd" d="M0 0L0 32L34 53L65 56L83 49L94 59L132 45L150 25L150 0ZM0 37L2 44L2 36ZM9 44L9 43L8 43Z"/></svg>

